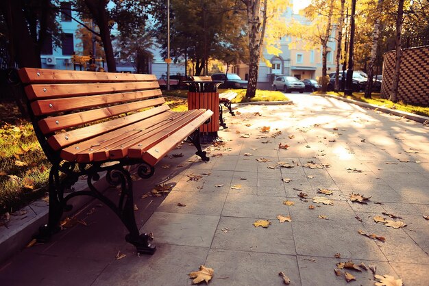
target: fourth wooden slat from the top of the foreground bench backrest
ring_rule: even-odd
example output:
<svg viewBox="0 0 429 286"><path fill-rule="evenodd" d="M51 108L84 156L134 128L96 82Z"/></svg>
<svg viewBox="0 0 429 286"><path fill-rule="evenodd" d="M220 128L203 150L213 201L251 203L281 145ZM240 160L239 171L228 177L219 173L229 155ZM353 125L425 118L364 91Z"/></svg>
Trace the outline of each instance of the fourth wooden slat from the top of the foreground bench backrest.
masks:
<svg viewBox="0 0 429 286"><path fill-rule="evenodd" d="M40 130L44 134L47 134L61 129L83 125L88 122L101 120L103 118L117 116L119 114L124 114L125 112L133 112L138 109L161 105L162 103L165 103L165 100L162 97L158 99L147 99L145 101L103 107L99 109L88 110L86 112L77 112L56 117L48 117L39 120L38 125Z"/></svg>

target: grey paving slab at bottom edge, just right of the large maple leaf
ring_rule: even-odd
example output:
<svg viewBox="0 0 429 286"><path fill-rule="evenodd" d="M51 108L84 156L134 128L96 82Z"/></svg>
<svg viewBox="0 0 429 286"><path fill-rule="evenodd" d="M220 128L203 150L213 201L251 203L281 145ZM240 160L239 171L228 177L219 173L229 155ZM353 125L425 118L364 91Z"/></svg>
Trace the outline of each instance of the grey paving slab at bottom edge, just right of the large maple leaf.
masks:
<svg viewBox="0 0 429 286"><path fill-rule="evenodd" d="M212 285L281 285L279 272L301 285L294 255L212 249L206 265L215 270Z"/></svg>

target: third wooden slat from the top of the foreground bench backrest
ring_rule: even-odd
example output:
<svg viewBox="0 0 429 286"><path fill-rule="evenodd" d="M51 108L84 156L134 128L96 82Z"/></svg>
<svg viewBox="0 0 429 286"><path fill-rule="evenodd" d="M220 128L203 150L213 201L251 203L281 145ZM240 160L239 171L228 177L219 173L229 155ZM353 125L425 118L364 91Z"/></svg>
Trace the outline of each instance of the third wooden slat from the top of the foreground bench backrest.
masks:
<svg viewBox="0 0 429 286"><path fill-rule="evenodd" d="M146 99L162 95L161 90L144 90L138 92L121 92L113 94L69 97L66 99L46 99L32 102L32 109L36 116L66 112L84 107L94 107L112 103L121 103L137 99Z"/></svg>

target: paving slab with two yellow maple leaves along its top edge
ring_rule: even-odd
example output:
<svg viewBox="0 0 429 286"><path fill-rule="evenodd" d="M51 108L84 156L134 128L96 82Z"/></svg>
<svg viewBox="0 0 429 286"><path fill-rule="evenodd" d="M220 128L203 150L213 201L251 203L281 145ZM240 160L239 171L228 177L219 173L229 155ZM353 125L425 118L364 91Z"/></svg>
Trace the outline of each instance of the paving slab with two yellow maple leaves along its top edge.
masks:
<svg viewBox="0 0 429 286"><path fill-rule="evenodd" d="M283 213L286 216L287 211ZM292 227L289 222L270 220L268 228L255 227L255 218L221 217L212 248L295 255ZM228 232L226 231L228 229ZM226 232L226 233L225 233Z"/></svg>

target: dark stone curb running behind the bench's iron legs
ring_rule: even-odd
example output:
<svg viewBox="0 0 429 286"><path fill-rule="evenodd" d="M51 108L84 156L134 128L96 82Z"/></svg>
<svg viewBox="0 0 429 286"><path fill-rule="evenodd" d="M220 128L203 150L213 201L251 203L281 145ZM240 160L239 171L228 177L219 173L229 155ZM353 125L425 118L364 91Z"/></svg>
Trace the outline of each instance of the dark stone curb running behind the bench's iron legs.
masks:
<svg viewBox="0 0 429 286"><path fill-rule="evenodd" d="M100 177L98 181L94 182L94 186L104 192L108 187L108 183L105 179L105 174L101 174ZM86 179L77 181L73 187L76 191L89 190L88 185L86 185ZM70 204L73 205L73 209L70 212L64 212L62 218L73 216L92 200L95 200L95 198L90 196L72 198ZM25 248L32 240L32 236L37 233L39 227L47 223L49 206L45 200L36 200L20 211L25 211L25 215L14 216L11 214L8 228L2 227L0 229L0 263L4 263Z"/></svg>

